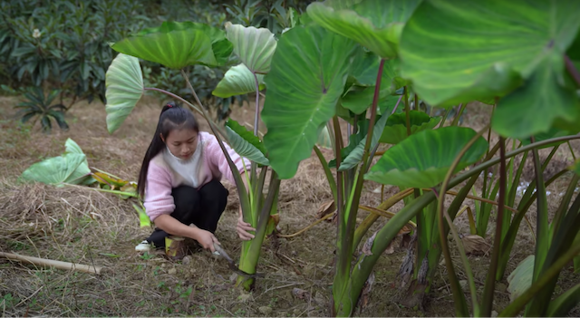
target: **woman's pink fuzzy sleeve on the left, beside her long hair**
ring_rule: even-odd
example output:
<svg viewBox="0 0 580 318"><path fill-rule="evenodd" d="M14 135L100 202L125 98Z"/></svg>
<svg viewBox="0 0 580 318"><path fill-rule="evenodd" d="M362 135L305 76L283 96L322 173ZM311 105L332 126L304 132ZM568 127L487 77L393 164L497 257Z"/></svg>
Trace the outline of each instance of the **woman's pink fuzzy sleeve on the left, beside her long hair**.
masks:
<svg viewBox="0 0 580 318"><path fill-rule="evenodd" d="M151 222L162 214L171 214L175 209L171 196L171 176L169 171L150 162L147 173L147 188L143 206Z"/></svg>

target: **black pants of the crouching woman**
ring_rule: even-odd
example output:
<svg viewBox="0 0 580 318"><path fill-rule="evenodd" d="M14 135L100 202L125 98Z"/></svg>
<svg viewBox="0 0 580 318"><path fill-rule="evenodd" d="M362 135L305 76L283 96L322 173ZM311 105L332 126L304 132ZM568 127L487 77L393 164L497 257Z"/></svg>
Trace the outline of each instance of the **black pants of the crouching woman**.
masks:
<svg viewBox="0 0 580 318"><path fill-rule="evenodd" d="M213 179L199 189L188 186L173 188L171 196L175 204L171 217L186 226L193 223L201 229L215 233L219 218L226 209L229 191L218 179ZM169 235L156 227L147 242L153 243L155 247L165 248L165 237Z"/></svg>

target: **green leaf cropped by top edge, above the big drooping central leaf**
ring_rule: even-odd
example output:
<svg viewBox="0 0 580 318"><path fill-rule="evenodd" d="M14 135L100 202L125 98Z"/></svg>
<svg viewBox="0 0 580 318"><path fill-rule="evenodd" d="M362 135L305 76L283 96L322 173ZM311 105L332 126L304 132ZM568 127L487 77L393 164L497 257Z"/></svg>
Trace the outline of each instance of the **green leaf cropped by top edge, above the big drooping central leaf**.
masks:
<svg viewBox="0 0 580 318"><path fill-rule="evenodd" d="M324 28L361 43L382 58L397 56L399 37L420 0L326 0L306 8Z"/></svg>

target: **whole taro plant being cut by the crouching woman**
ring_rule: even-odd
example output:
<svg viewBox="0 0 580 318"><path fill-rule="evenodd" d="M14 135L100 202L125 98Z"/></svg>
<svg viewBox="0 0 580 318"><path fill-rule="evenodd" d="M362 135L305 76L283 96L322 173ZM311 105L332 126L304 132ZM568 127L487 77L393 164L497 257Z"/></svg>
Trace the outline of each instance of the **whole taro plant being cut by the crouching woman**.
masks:
<svg viewBox="0 0 580 318"><path fill-rule="evenodd" d="M239 31L239 29L237 30ZM247 46L247 43L258 46ZM209 128L216 136L232 170L244 220L256 228L255 238L243 245L242 259L239 265L239 268L246 273L255 274L266 230L271 231L275 227L275 220L277 220L277 216L271 217L271 214L275 214L276 211L275 202L280 185L280 179L276 177L275 171L272 171L267 196L264 198L263 190L266 184L269 161L266 158L264 144L256 136L258 112L256 112L254 134L235 120L228 120L225 128L218 127L209 118L206 108L199 101L185 69L193 64L203 64L209 67L224 64L229 55L235 52L242 63L232 67L227 72L225 78L219 82L214 94L218 96L230 94L231 96L256 92L257 106L259 91L264 88L260 81L263 74L268 72L271 55L275 50L273 35L264 29L248 28L238 33L226 34L207 24L164 22L160 27L145 29L139 34L111 44L111 47L120 53L113 60L106 74L108 130L111 133L117 130L137 101L140 100L142 94L148 90L165 93L185 103L193 111L200 113L208 121ZM145 88L138 58L180 70L197 105L160 88ZM249 81L247 81L248 79ZM232 149L252 162L251 171L245 173L248 188L227 153L224 139L227 140ZM258 167L261 169L259 175L256 172ZM254 279L252 277L246 278L240 278L237 283L249 289L254 284Z"/></svg>

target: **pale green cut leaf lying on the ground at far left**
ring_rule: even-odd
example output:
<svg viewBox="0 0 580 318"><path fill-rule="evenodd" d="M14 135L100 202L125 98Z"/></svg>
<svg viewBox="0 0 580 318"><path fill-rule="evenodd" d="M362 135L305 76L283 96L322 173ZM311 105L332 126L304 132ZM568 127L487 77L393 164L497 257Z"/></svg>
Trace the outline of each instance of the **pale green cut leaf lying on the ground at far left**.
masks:
<svg viewBox="0 0 580 318"><path fill-rule="evenodd" d="M45 159L24 170L22 178L50 185L81 184L81 177L91 172L83 165L85 158L82 154L66 153L63 156Z"/></svg>

